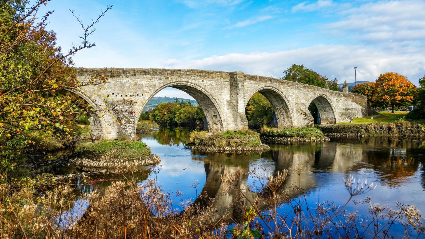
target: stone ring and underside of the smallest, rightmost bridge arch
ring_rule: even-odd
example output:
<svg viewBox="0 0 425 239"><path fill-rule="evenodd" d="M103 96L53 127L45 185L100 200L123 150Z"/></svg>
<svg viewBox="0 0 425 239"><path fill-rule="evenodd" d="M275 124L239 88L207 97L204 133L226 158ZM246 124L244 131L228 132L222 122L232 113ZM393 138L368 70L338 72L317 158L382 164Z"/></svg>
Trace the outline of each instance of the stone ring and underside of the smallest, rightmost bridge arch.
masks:
<svg viewBox="0 0 425 239"><path fill-rule="evenodd" d="M309 105L314 103L317 107L317 124L319 125L329 125L335 124L337 122L335 108L332 104L332 101L324 94L320 94L312 101L310 101Z"/></svg>

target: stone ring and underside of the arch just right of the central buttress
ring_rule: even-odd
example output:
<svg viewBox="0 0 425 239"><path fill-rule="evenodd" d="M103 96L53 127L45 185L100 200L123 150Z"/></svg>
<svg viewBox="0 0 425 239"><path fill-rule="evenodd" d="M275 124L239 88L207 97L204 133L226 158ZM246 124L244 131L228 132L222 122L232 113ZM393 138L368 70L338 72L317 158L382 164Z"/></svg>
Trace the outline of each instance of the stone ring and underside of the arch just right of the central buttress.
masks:
<svg viewBox="0 0 425 239"><path fill-rule="evenodd" d="M247 97L245 100L245 106L248 104L248 101L255 93L260 93L272 104L273 109L275 110L276 120L278 122L278 128L292 128L294 125L292 117L292 109L289 106L289 101L286 97L279 91L278 88L272 86L265 86L254 91L251 96Z"/></svg>

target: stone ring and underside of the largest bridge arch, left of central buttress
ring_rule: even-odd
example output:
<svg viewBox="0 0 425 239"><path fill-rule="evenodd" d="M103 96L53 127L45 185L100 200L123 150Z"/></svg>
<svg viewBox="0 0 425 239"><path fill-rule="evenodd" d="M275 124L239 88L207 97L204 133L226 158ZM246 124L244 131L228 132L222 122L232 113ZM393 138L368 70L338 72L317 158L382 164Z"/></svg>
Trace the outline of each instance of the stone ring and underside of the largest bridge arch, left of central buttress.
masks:
<svg viewBox="0 0 425 239"><path fill-rule="evenodd" d="M208 91L202 88L199 85L195 85L193 83L185 82L185 81L175 81L172 83L167 83L162 85L156 91L154 91L150 97L143 103L142 109L146 106L147 102L149 102L159 91L164 88L172 87L184 91L189 94L193 99L198 102L199 106L201 106L202 110L205 114L204 119L204 129L213 132L213 133L224 133L226 128L223 124L223 114L220 105L217 100ZM142 112L140 112L142 114ZM140 116L139 116L140 117ZM135 127L137 126L137 122L135 122Z"/></svg>

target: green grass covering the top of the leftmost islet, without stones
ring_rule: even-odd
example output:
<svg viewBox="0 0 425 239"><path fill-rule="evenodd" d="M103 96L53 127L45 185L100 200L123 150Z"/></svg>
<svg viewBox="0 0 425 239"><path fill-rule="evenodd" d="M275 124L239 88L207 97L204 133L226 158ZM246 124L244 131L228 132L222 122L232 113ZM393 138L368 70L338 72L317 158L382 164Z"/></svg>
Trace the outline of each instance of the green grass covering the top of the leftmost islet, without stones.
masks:
<svg viewBox="0 0 425 239"><path fill-rule="evenodd" d="M130 159L150 156L150 148L141 141L109 141L82 143L75 149L77 156L96 157L108 155L114 159Z"/></svg>

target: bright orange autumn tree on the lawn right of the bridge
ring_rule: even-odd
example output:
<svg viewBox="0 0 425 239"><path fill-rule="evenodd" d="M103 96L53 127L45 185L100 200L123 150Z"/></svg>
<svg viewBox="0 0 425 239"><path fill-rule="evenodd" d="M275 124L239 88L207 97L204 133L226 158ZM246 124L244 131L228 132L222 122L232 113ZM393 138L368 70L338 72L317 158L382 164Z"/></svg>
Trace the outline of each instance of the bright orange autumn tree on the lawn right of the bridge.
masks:
<svg viewBox="0 0 425 239"><path fill-rule="evenodd" d="M405 76L387 72L380 74L372 91L374 92L374 102L378 106L390 106L391 113L394 113L395 106L403 106L414 102L418 89Z"/></svg>

